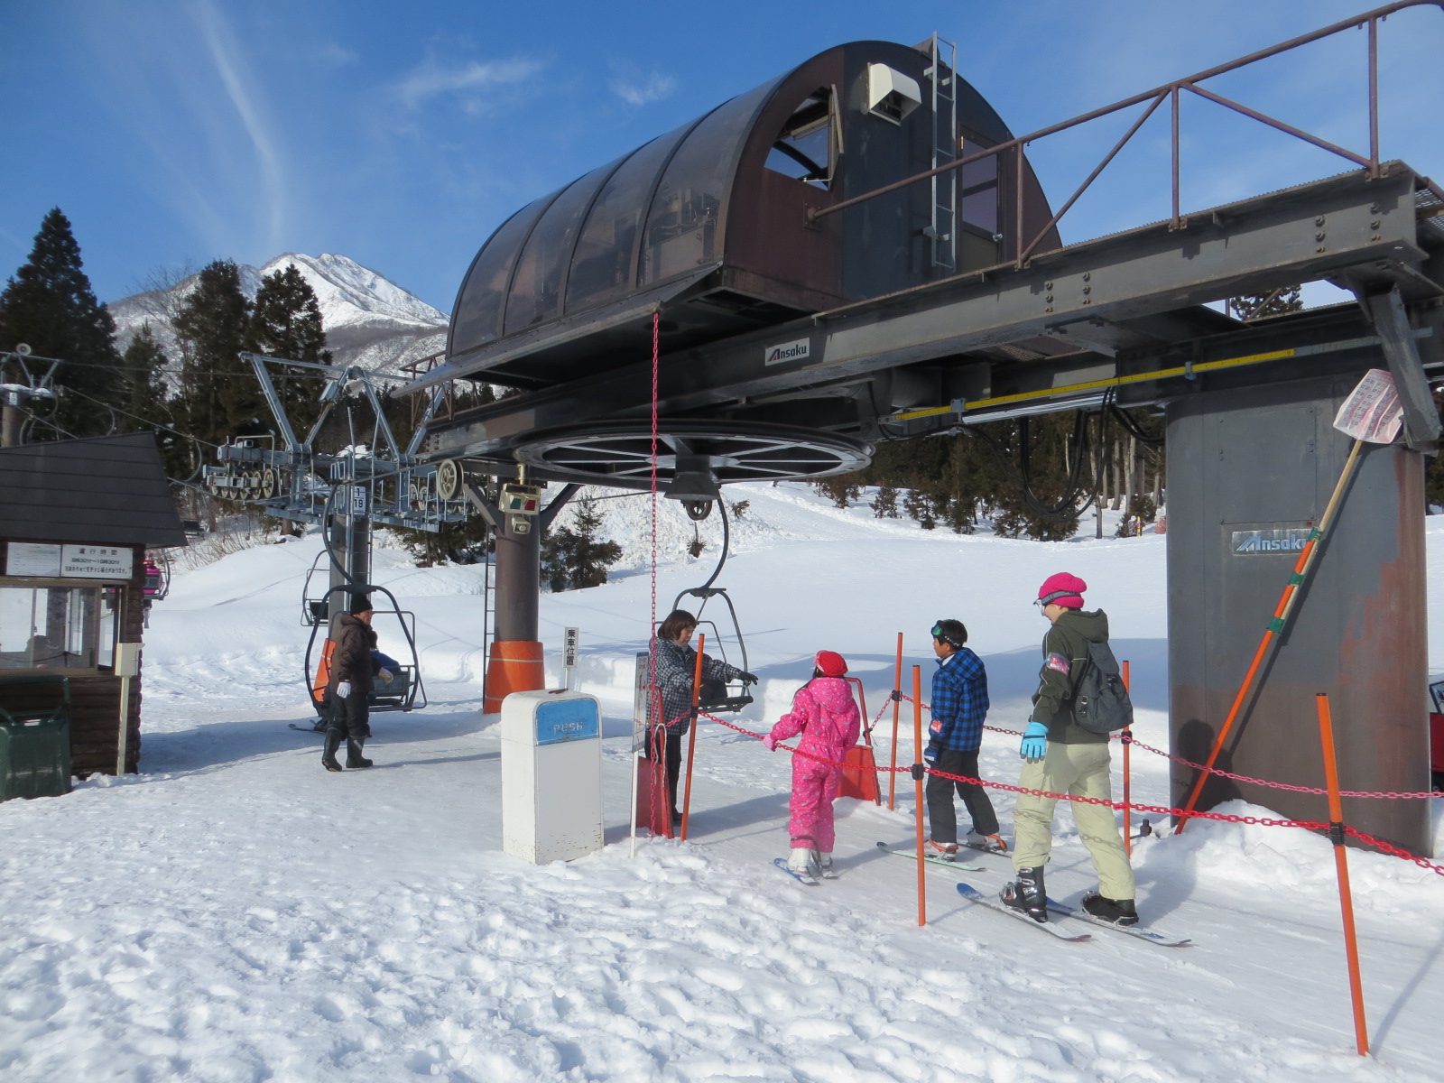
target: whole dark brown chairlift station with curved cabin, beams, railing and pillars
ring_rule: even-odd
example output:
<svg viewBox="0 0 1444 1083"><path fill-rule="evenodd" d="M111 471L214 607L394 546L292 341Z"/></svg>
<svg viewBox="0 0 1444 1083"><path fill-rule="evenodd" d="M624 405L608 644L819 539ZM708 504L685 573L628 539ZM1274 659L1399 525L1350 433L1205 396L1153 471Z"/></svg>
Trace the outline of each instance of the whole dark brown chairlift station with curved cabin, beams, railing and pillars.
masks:
<svg viewBox="0 0 1444 1083"><path fill-rule="evenodd" d="M1386 368L1404 440L1363 453L1219 767L1320 786L1314 700L1328 693L1346 790L1427 790L1424 465L1440 436L1428 373L1444 365L1444 192L1380 159L1376 92L1379 22L1414 6L1440 4L1389 4L1022 137L954 74L946 42L840 45L517 211L461 284L445 358L401 387L520 391L432 419L413 456L420 477L456 472L497 530L492 679L495 658L537 638L540 530L474 482L562 482L553 514L575 485L648 488L656 329L660 485L697 514L722 484L856 469L881 440L1106 401L1160 410L1171 742L1203 761L1292 569L1288 546L1248 540L1318 523L1350 445L1334 413ZM1365 150L1206 85L1349 32L1370 65ZM1347 172L1190 211L1184 97L1330 150ZM1138 120L1099 147L1079 192L1045 193L1027 146L1122 110ZM1063 245L1060 218L1149 117L1173 124L1173 214ZM1206 308L1314 280L1356 302L1255 322ZM1040 580L1066 563L1056 549L1038 557ZM978 570L959 566L959 588ZM1092 588L1106 609L1110 585ZM1019 606L1031 589L1019 583ZM488 700L505 690L488 686ZM1196 778L1174 767L1174 804ZM1233 797L1327 819L1321 796L1219 775L1200 807ZM1354 799L1346 819L1414 852L1428 843L1425 801Z"/></svg>

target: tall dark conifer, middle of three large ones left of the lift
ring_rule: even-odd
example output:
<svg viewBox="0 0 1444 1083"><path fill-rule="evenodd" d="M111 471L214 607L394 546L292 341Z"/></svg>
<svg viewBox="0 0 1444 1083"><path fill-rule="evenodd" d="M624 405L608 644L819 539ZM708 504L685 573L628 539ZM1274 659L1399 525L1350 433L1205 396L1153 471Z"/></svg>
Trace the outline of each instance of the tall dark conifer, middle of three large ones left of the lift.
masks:
<svg viewBox="0 0 1444 1083"><path fill-rule="evenodd" d="M182 427L211 443L270 427L251 367L240 352L251 345L251 305L234 260L215 260L175 318L180 342Z"/></svg>

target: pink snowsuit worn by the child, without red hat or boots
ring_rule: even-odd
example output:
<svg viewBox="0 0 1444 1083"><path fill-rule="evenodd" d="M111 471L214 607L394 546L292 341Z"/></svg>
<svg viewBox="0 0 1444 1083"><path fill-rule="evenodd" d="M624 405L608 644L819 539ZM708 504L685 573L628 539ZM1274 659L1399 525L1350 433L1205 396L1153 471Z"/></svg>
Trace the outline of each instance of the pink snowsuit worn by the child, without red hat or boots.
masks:
<svg viewBox="0 0 1444 1083"><path fill-rule="evenodd" d="M832 853L836 838L832 803L842 786L842 768L832 764L840 764L848 749L858 744L861 728L858 702L842 677L813 677L797 690L793 709L773 726L774 741L801 734L797 748L829 761L793 757L791 819L787 823L793 849L814 846L822 853Z"/></svg>

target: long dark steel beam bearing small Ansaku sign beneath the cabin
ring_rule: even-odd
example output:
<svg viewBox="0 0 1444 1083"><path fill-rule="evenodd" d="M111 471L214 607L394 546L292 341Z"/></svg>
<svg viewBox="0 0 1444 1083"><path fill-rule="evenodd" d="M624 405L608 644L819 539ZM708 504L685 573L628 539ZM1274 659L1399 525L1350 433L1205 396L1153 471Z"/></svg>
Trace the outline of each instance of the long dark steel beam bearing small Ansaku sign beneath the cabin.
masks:
<svg viewBox="0 0 1444 1083"><path fill-rule="evenodd" d="M1083 321L1155 316L1240 293L1349 274L1401 283L1405 299L1444 295L1417 269L1414 193L1401 163L1370 180L1347 173L1168 222L784 323L663 358L660 410L676 414L764 394L855 380L879 370L957 357L1053 334ZM791 347L781 351L777 347ZM775 360L771 360L775 358ZM1099 358L1099 361L1106 361ZM1015 362L1019 371L1040 362ZM998 374L1011 365L995 362ZM634 365L508 399L433 429L429 456L508 458L527 433L641 416L651 365Z"/></svg>

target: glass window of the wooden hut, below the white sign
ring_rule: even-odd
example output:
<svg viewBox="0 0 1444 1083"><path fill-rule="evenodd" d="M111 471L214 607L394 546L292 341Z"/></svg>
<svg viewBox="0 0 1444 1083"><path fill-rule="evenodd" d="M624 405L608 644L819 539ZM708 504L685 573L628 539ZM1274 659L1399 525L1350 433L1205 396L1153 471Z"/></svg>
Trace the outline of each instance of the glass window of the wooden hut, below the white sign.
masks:
<svg viewBox="0 0 1444 1083"><path fill-rule="evenodd" d="M110 666L117 588L0 586L0 670Z"/></svg>

